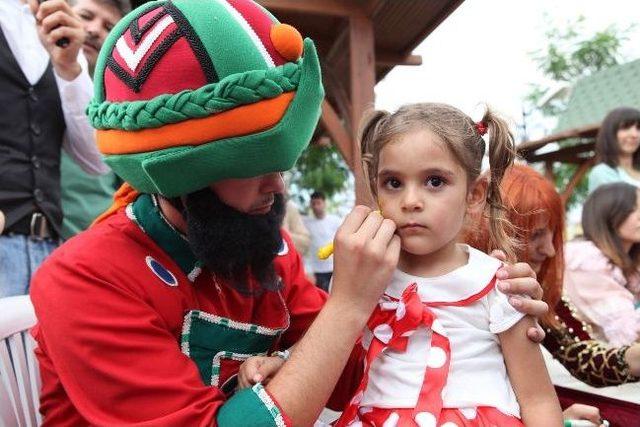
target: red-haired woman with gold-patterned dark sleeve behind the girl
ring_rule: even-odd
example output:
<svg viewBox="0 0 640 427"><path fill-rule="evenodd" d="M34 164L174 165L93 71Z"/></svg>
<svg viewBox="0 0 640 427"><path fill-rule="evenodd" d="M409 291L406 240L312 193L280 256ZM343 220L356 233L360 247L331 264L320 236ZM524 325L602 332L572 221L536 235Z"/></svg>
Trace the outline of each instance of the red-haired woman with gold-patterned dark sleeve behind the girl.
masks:
<svg viewBox="0 0 640 427"><path fill-rule="evenodd" d="M534 169L516 165L505 174L501 193L507 217L522 243L516 256L536 271L542 299L549 304L549 313L541 319L547 332L543 345L574 377L589 385L638 381L640 344L612 347L593 339L591 329L576 320L575 310L562 298L564 208L553 184ZM486 221L476 218L468 230L465 240L470 245L495 249ZM585 357L572 356L578 353Z"/></svg>

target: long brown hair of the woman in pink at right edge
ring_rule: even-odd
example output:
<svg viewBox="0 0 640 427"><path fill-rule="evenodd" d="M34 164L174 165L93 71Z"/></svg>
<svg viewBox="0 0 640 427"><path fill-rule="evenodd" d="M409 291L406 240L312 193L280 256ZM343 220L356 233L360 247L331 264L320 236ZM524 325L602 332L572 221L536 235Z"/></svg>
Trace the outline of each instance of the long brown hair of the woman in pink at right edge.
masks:
<svg viewBox="0 0 640 427"><path fill-rule="evenodd" d="M618 228L636 210L638 188L624 182L605 184L595 189L582 208L584 237L591 240L612 264L620 267L629 280L638 273L640 243L627 253L618 236Z"/></svg>

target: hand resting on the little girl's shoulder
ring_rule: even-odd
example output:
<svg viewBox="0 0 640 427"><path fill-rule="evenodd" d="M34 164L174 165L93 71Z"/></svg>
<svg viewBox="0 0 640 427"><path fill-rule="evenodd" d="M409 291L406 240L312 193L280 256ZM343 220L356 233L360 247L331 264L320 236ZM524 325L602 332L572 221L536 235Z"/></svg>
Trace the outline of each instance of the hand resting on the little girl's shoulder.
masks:
<svg viewBox="0 0 640 427"><path fill-rule="evenodd" d="M493 251L491 256L505 261L506 257L502 251ZM525 262L516 264L505 264L496 273L498 278L498 289L509 295L509 303L519 312L533 317L544 316L549 311L549 306L542 301L542 287L536 279L536 273L531 266ZM526 295L529 298L523 298ZM529 328L527 336L534 342L544 340L544 331L540 325Z"/></svg>

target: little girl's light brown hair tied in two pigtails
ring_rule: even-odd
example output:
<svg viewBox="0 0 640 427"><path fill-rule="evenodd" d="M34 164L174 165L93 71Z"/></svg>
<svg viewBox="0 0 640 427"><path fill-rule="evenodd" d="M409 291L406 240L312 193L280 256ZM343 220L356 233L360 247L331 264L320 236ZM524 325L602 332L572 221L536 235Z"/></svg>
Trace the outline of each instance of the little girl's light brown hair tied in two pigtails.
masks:
<svg viewBox="0 0 640 427"><path fill-rule="evenodd" d="M363 119L360 128L362 167L375 196L382 148L404 134L428 129L446 144L466 171L467 182L471 185L480 175L485 152L485 141L479 131L481 127L486 127L489 133L490 172L485 213L489 218L490 238L511 260L514 244L509 237L511 227L500 196L500 181L506 169L513 164L515 144L507 122L490 109L485 112L480 125L462 111L446 104L409 104L393 114L372 111Z"/></svg>

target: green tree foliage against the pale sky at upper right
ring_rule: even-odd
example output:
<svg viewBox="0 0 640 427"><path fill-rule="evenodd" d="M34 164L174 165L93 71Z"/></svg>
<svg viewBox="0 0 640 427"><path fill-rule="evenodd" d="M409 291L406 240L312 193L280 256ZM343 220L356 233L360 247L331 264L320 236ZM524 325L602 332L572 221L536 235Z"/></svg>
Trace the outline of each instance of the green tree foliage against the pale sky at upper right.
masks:
<svg viewBox="0 0 640 427"><path fill-rule="evenodd" d="M539 106L542 98L552 87L561 84L573 85L585 76L624 62L621 49L631 27L620 29L611 25L604 30L588 34L585 30L585 19L577 20L549 29L545 35L547 45L532 54L538 69L546 82L531 85L531 92L526 98L529 110L538 110L546 117L558 117L566 109L568 99L553 99ZM575 144L577 141L565 141L562 146ZM553 166L556 187L564 189L576 171L575 165L557 163ZM567 208L582 203L586 198L586 178L576 187Z"/></svg>

